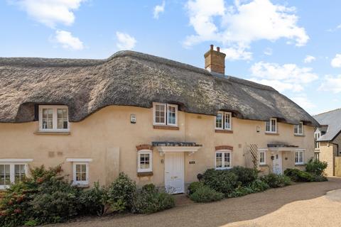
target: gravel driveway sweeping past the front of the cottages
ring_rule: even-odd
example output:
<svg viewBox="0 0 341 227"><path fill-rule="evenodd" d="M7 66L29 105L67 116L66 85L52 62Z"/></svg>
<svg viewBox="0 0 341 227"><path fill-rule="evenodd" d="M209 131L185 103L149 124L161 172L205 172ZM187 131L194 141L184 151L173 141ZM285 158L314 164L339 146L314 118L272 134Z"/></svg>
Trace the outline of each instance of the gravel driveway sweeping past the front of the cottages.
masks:
<svg viewBox="0 0 341 227"><path fill-rule="evenodd" d="M148 215L82 218L50 227L90 226L340 226L341 178L194 204L178 196L174 209Z"/></svg>

